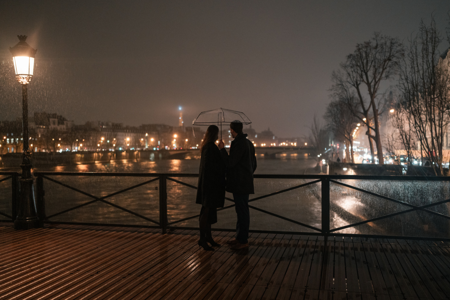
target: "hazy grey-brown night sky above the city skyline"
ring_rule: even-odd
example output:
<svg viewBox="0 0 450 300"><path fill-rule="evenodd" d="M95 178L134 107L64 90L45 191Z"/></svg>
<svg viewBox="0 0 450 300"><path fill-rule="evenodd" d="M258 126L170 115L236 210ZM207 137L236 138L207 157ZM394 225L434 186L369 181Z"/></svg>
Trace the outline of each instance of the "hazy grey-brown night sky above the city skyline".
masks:
<svg viewBox="0 0 450 300"><path fill-rule="evenodd" d="M407 39L443 1L0 2L0 120L21 116L9 47L37 48L30 114L125 125L184 124L218 107L258 132L308 134L329 103L331 72L374 31ZM443 43L442 51L447 43Z"/></svg>

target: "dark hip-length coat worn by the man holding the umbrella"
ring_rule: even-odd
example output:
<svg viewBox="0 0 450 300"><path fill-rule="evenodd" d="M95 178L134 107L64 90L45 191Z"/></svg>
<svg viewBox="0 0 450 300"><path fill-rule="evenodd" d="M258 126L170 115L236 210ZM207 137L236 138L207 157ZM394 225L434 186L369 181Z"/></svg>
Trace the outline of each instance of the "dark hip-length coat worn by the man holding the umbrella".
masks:
<svg viewBox="0 0 450 300"><path fill-rule="evenodd" d="M231 142L229 155L220 150L226 164L226 191L237 194L254 194L253 173L256 170L255 146L247 134L238 134Z"/></svg>

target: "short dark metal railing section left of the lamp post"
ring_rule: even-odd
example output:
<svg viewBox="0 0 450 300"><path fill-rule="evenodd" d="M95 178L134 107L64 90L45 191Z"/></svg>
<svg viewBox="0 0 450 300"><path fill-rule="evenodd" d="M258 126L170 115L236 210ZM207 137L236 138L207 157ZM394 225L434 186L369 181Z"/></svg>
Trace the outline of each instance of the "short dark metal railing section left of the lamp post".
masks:
<svg viewBox="0 0 450 300"><path fill-rule="evenodd" d="M3 177L4 176L4 177ZM0 222L14 222L17 216L17 203L18 197L20 195L19 191L19 176L20 173L17 172L0 172L0 187L2 184L7 183L11 180L11 197L7 197L2 193L1 200L3 200L3 206L11 206L11 215L5 207L0 208L0 215L6 217L7 219L0 219ZM1 192L0 192L1 193ZM7 203L9 202L9 203Z"/></svg>

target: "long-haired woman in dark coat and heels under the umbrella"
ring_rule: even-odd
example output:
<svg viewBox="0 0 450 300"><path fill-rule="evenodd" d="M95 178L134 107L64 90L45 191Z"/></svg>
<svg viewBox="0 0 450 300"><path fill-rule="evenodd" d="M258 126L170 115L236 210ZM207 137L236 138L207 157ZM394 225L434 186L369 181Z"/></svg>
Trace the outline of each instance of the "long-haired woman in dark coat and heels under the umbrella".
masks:
<svg viewBox="0 0 450 300"><path fill-rule="evenodd" d="M198 171L197 200L201 204L200 240L198 246L204 250L214 251L211 246L220 246L214 242L211 235L211 224L217 223L217 207L225 203L225 164L220 157L220 150L216 145L219 138L219 128L216 125L208 127L201 145L200 170Z"/></svg>

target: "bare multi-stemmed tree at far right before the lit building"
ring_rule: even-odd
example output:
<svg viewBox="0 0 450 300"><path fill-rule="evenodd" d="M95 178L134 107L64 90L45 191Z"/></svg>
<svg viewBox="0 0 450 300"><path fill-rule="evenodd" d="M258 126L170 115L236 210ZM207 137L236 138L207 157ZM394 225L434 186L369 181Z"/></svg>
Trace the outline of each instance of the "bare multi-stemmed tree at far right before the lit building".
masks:
<svg viewBox="0 0 450 300"><path fill-rule="evenodd" d="M436 175L444 174L442 150L450 116L449 70L438 52L442 40L433 18L430 26L422 21L403 60L398 84L399 107L407 115L422 157L431 162Z"/></svg>

